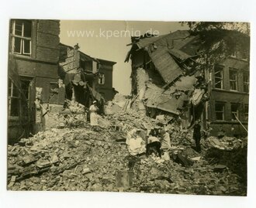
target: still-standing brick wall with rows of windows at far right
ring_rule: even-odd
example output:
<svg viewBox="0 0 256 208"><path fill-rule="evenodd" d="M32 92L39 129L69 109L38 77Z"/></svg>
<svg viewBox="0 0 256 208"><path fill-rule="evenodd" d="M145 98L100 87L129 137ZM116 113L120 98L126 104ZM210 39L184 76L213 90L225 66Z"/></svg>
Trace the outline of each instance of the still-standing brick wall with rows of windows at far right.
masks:
<svg viewBox="0 0 256 208"><path fill-rule="evenodd" d="M208 112L212 135L217 136L219 131L228 136L247 135L239 121L247 128L248 104L249 63L230 57L216 65Z"/></svg>

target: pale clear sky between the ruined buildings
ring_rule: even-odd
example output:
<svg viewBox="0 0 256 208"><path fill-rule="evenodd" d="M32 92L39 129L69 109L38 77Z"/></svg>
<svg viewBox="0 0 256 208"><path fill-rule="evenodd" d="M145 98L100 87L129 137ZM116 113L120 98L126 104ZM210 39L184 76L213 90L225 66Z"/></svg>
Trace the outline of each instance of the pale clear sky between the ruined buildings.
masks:
<svg viewBox="0 0 256 208"><path fill-rule="evenodd" d="M179 22L140 21L85 21L61 20L61 43L79 44L80 50L89 56L116 62L113 68L113 87L119 93L130 94L131 65L124 63L130 46L130 36L145 32L164 35L178 29L188 29Z"/></svg>

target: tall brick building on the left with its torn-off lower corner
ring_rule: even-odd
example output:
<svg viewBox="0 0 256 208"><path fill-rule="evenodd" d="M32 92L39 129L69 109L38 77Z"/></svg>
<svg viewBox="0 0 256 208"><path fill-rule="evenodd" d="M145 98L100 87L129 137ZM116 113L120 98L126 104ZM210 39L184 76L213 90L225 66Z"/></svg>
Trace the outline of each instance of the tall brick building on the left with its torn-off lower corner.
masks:
<svg viewBox="0 0 256 208"><path fill-rule="evenodd" d="M58 20L10 21L9 142L43 130L43 111L64 104L57 74L59 33Z"/></svg>

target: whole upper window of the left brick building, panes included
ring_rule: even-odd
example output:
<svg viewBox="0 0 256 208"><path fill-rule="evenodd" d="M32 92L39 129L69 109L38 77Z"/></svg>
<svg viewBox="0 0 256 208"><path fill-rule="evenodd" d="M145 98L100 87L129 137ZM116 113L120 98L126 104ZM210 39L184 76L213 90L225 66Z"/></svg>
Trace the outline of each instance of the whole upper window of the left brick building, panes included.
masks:
<svg viewBox="0 0 256 208"><path fill-rule="evenodd" d="M12 53L31 55L32 22L17 19L12 22Z"/></svg>

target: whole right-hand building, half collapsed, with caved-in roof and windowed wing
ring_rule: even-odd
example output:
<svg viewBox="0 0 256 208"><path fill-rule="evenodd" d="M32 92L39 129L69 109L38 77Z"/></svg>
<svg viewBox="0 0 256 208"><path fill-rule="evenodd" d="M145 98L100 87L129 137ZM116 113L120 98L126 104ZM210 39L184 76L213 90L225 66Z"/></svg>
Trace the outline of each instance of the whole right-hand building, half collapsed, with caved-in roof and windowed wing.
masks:
<svg viewBox="0 0 256 208"><path fill-rule="evenodd" d="M211 135L247 135L249 63L237 52L214 70L199 63L202 40L187 30L132 37L133 107L155 118L177 119L189 128L200 119Z"/></svg>

